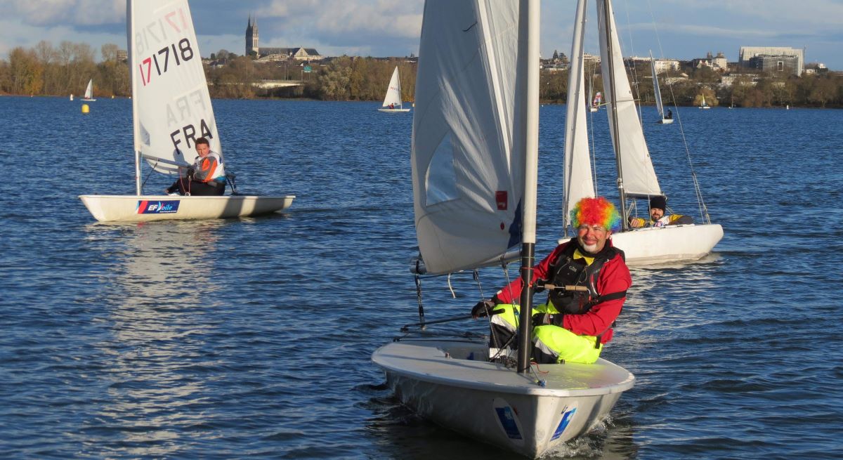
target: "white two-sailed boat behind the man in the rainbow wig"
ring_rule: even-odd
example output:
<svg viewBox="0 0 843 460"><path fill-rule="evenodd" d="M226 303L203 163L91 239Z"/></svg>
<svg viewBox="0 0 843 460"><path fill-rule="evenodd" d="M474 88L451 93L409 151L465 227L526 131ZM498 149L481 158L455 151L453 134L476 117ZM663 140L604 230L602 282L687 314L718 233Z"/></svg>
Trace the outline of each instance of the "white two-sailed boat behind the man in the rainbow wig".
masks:
<svg viewBox="0 0 843 460"><path fill-rule="evenodd" d="M620 211L622 216L627 217L630 214L627 211L627 201L646 200L651 196L664 194L658 185L658 178L652 167L650 152L644 139L641 120L638 119L635 99L623 64L611 5L610 0L598 1L600 61L606 94L606 112L609 115L609 131L615 150ZM577 18L577 24L580 20L584 19ZM582 56L582 54L582 47L572 49L571 56ZM572 78L574 73L575 71L572 70ZM582 69L577 70L577 78L582 78L578 75L580 73ZM569 83L568 88L575 88L575 86ZM577 98L578 96L572 91L569 97ZM569 99L569 110L571 105L578 105L571 104L571 100L578 99ZM563 222L566 234L570 226L568 211L583 196L595 195L590 152L586 141L587 131L588 126L586 126L584 116L569 115L566 118L566 137L572 137L571 140L566 138L565 142ZM701 198L696 175L692 174L692 178L701 207L702 223L630 229L625 218L623 232L615 233L611 238L615 247L623 249L626 253L626 265L651 265L700 259L709 254L714 245L720 241L723 229L719 224L711 223L711 218Z"/></svg>

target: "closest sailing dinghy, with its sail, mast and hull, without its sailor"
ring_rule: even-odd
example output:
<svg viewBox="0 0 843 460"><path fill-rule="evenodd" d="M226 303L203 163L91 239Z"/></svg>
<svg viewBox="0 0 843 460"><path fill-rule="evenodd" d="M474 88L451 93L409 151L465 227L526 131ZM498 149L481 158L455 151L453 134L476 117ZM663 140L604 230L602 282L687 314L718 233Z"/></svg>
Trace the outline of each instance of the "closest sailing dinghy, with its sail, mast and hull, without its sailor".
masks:
<svg viewBox="0 0 843 460"><path fill-rule="evenodd" d="M539 19L539 0L425 4L411 142L417 276L498 265L514 251L531 279ZM540 457L599 424L635 377L602 359L541 365L538 372L528 356L529 291L521 299L514 368L488 360L486 336L449 339L425 329L447 320L425 323L421 297L421 330L375 350L372 360L421 416Z"/></svg>

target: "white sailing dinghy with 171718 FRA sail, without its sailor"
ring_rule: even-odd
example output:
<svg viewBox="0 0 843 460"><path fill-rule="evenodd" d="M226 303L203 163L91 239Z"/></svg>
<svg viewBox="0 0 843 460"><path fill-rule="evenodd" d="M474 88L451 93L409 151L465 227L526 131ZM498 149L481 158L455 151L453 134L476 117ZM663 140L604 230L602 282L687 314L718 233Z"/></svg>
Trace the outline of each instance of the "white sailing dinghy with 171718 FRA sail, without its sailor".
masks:
<svg viewBox="0 0 843 460"><path fill-rule="evenodd" d="M132 80L135 195L80 195L100 222L213 219L286 209L295 195L142 195L141 166L179 174L203 136L222 155L187 0L127 0L126 39ZM229 182L234 189L233 178Z"/></svg>

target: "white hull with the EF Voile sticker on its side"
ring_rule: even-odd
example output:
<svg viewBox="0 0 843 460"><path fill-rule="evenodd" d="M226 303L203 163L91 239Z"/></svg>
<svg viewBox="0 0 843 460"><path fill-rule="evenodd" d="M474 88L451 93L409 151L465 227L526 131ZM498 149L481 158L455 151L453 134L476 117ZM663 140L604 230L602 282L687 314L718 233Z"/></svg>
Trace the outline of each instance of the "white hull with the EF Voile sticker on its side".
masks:
<svg viewBox="0 0 843 460"><path fill-rule="evenodd" d="M282 211L295 195L79 195L99 222L150 222L249 217Z"/></svg>

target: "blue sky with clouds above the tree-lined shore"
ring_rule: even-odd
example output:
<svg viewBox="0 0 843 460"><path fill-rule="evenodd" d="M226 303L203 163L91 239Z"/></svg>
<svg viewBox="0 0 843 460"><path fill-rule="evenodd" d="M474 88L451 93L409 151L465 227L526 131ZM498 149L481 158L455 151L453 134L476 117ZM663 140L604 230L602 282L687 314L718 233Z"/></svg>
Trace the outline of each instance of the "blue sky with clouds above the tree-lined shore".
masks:
<svg viewBox="0 0 843 460"><path fill-rule="evenodd" d="M454 0L440 0L454 1ZM458 1L458 0L457 0ZM418 51L422 0L191 0L202 56L244 53L250 13L260 45L316 48L324 56L409 56ZM843 0L615 0L625 55L674 59L740 46L805 49L806 62L843 70ZM568 54L575 0L542 2L541 52ZM594 16L593 2L589 17ZM39 40L105 43L126 48L125 0L2 0L0 56ZM597 52L596 21L587 51ZM99 52L97 52L99 58Z"/></svg>

